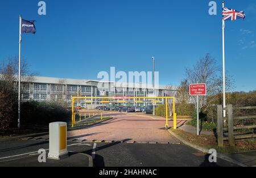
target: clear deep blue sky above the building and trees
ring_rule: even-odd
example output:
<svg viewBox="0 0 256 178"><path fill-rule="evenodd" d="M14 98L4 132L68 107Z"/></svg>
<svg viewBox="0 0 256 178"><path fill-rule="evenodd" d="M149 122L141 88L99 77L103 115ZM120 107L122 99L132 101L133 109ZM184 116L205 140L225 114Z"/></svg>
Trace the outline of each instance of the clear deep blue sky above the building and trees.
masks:
<svg viewBox="0 0 256 178"><path fill-rule="evenodd" d="M210 53L222 64L221 1L86 0L2 1L0 60L18 55L19 14L36 20L36 35L23 35L22 56L47 77L97 79L100 71L150 71L156 58L160 84L179 84L185 67ZM226 1L245 20L226 22L226 70L234 91L256 90L256 2Z"/></svg>

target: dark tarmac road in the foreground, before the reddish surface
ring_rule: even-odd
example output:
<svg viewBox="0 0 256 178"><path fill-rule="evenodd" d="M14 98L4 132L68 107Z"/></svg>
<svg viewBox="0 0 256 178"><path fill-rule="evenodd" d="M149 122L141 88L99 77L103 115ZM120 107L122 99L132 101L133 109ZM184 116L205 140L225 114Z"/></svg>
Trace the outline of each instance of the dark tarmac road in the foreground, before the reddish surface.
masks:
<svg viewBox="0 0 256 178"><path fill-rule="evenodd" d="M220 158L217 159L217 163L209 163L208 155L185 145L121 142L68 142L68 145L69 151L92 155L96 167L236 166ZM47 150L48 142L33 140L1 142L0 166L44 166L45 163L37 165L33 163L36 162L35 155L39 149ZM84 163L84 166L88 166L87 164ZM74 163L71 165L76 166ZM61 164L56 163L55 166Z"/></svg>

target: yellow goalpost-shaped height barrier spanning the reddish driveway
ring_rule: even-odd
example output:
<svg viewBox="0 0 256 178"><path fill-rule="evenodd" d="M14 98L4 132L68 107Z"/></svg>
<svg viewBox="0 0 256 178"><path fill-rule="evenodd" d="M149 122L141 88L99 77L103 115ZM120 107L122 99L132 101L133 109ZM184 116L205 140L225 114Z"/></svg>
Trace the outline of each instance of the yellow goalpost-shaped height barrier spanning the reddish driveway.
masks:
<svg viewBox="0 0 256 178"><path fill-rule="evenodd" d="M75 113L75 107L74 107L74 104L75 104L75 100L77 99L112 99L112 100L116 100L116 99L119 99L119 98L122 98L121 97L118 97L118 96L114 96L114 97L107 97L107 96L102 96L102 97L98 97L98 96L75 96L75 97L72 97L72 127L74 126L75 124L75 117L74 117L74 113ZM173 116L174 116L174 130L177 129L177 115L176 115L176 112L175 112L175 97L174 96L155 96L155 97L141 97L141 96L127 96L127 97L123 97L122 99L165 99L166 100L166 128L169 128L169 125L168 125L168 99L172 99L173 101ZM90 101L92 102L92 101ZM127 103L126 101L123 101L123 103Z"/></svg>

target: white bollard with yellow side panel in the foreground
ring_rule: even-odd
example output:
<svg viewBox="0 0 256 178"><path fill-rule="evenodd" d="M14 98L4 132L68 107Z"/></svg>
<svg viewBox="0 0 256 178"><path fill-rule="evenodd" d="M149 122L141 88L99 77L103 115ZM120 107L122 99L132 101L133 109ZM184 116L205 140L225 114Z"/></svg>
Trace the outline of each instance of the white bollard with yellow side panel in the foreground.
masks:
<svg viewBox="0 0 256 178"><path fill-rule="evenodd" d="M49 124L49 159L62 159L68 156L67 123L52 122Z"/></svg>

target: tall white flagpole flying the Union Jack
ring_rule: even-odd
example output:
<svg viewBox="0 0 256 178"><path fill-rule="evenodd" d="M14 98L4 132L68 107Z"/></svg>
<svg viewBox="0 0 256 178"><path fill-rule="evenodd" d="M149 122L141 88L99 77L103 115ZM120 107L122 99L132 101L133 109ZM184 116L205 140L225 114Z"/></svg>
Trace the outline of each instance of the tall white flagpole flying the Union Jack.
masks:
<svg viewBox="0 0 256 178"><path fill-rule="evenodd" d="M224 9L224 1L222 1L222 9ZM222 60L223 60L223 107L226 108L226 77L225 77L225 20L222 18ZM223 113L224 117L226 117L226 111Z"/></svg>

